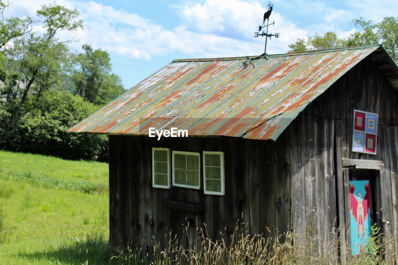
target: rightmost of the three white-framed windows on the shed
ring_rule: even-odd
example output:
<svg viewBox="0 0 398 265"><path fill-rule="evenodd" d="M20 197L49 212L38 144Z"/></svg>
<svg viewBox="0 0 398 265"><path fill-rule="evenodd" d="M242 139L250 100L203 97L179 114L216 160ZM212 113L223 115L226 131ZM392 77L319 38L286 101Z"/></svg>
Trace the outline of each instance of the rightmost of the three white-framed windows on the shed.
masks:
<svg viewBox="0 0 398 265"><path fill-rule="evenodd" d="M203 186L205 194L224 195L224 152L203 151Z"/></svg>

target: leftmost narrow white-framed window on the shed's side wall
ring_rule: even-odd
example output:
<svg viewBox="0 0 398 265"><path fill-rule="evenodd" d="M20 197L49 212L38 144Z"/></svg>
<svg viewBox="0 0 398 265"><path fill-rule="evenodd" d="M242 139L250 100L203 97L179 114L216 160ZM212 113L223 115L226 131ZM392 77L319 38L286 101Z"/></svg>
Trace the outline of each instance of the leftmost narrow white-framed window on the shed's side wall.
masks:
<svg viewBox="0 0 398 265"><path fill-rule="evenodd" d="M152 148L152 187L170 188L170 149Z"/></svg>

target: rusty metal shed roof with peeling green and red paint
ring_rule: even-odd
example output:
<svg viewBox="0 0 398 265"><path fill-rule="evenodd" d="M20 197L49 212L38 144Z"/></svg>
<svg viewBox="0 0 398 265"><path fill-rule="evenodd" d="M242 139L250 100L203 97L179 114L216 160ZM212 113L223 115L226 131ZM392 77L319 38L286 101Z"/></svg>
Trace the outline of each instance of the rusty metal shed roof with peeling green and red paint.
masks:
<svg viewBox="0 0 398 265"><path fill-rule="evenodd" d="M379 45L264 56L174 60L69 132L273 139Z"/></svg>

